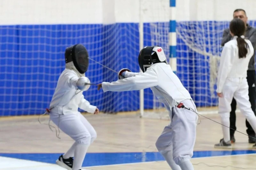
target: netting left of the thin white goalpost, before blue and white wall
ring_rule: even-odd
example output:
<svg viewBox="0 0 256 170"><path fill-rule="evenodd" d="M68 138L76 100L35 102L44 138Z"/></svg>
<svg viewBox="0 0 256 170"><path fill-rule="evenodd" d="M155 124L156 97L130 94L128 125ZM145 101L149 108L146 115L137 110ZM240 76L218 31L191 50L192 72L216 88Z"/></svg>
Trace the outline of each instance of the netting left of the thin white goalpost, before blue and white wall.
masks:
<svg viewBox="0 0 256 170"><path fill-rule="evenodd" d="M76 43L83 44L92 59L86 76L93 84L116 81L115 71L122 68L139 71L138 22L108 21L115 10L108 11L113 4L107 1L104 9L101 0L56 3L2 2L0 116L43 114L65 69L65 49ZM83 94L104 113L137 111L140 105L138 91L104 93L92 85Z"/></svg>

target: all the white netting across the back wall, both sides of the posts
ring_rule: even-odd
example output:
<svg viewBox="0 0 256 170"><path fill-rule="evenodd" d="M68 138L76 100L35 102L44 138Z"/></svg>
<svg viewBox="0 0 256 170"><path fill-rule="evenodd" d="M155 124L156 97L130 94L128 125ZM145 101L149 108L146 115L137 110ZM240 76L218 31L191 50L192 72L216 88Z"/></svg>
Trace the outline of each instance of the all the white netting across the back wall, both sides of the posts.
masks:
<svg viewBox="0 0 256 170"><path fill-rule="evenodd" d="M241 8L244 7L247 12L248 23L256 26L252 18L256 1L247 1L251 7L241 4ZM88 49L92 60L86 76L94 84L116 81L116 72L122 68L139 72L141 23L143 46L159 45L163 47L166 56L169 56L169 0L127 2L126 5L130 5L129 9L133 10L119 8L118 6L123 5L122 1L111 2L114 4L106 2L101 9L97 5L103 3L100 0L97 3L86 1L86 4L83 0L77 0L75 6L71 1L53 6L39 0L15 3L2 1L0 116L44 113L45 108L49 107L58 77L65 69L65 49L76 43L81 43ZM197 3L192 5L193 2ZM218 105L215 90L220 42L222 32L228 28L232 12L236 9L231 4L232 9L228 8L226 15L223 15L220 11L224 7L216 8L220 1L209 2L213 3L211 11L207 11L203 0L176 1L176 74L190 92L196 106L204 108ZM227 4L228 0L222 3ZM112 9L114 7L116 8ZM27 9L30 8L33 10L28 13ZM45 15L41 15L42 13ZM200 18L206 14L213 17ZM195 15L197 19L193 19L192 16ZM214 19L220 16L226 16L225 21ZM91 86L83 94L86 100L104 113L128 111L139 114L139 91L104 93L97 91L96 86ZM168 119L163 105L150 89L144 90L143 116Z"/></svg>

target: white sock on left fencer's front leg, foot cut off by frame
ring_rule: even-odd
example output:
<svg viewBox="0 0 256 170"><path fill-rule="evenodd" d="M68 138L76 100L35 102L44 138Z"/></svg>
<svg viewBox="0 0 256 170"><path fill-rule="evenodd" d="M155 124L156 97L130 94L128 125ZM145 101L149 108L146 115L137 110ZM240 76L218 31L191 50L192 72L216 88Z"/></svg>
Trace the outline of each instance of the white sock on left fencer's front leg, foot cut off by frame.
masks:
<svg viewBox="0 0 256 170"><path fill-rule="evenodd" d="M72 170L79 170L82 168L84 157L87 152L89 145L76 144L76 150L74 155L74 164Z"/></svg>

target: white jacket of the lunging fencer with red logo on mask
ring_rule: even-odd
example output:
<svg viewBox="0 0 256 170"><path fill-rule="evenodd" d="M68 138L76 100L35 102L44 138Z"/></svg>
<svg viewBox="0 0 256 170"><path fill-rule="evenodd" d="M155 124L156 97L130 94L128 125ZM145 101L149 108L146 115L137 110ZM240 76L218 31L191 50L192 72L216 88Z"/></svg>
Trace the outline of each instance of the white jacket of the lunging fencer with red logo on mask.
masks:
<svg viewBox="0 0 256 170"><path fill-rule="evenodd" d="M181 102L191 99L187 89L173 73L170 65L166 63L153 64L144 73L126 71L123 80L111 83L102 82L103 92L132 91L149 87L168 111L171 111L171 108L177 105L174 100Z"/></svg>

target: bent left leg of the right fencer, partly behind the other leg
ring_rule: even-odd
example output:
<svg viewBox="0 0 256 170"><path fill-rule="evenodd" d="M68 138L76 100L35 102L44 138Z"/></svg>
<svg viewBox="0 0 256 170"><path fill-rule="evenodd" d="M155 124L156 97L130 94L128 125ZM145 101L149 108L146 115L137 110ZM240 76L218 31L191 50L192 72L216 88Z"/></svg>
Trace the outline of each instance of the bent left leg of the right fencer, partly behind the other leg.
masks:
<svg viewBox="0 0 256 170"><path fill-rule="evenodd" d="M181 170L180 166L174 162L172 157L172 128L170 125L166 126L162 134L158 137L156 148L163 155L172 170Z"/></svg>

